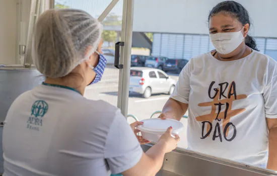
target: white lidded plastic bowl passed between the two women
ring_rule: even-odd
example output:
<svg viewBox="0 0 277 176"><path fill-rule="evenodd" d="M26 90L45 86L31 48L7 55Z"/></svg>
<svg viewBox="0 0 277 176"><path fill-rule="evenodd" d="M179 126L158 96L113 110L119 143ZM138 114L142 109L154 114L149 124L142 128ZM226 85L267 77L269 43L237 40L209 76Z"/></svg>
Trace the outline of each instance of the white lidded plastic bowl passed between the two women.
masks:
<svg viewBox="0 0 277 176"><path fill-rule="evenodd" d="M172 127L172 137L179 134L184 126L181 122L173 119L162 120L159 118L143 120L143 125L137 127L141 131L143 138L151 142L158 142L160 137L169 127Z"/></svg>

